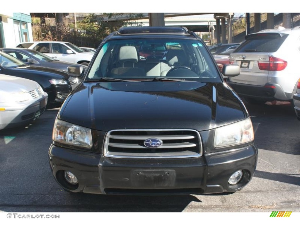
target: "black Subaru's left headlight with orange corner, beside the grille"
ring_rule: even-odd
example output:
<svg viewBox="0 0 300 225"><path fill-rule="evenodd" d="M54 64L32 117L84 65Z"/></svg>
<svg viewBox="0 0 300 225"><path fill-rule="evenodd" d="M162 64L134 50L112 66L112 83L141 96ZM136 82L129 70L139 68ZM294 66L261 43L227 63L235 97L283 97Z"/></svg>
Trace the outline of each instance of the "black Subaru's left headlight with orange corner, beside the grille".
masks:
<svg viewBox="0 0 300 225"><path fill-rule="evenodd" d="M91 148L91 129L56 119L52 140L63 144Z"/></svg>

